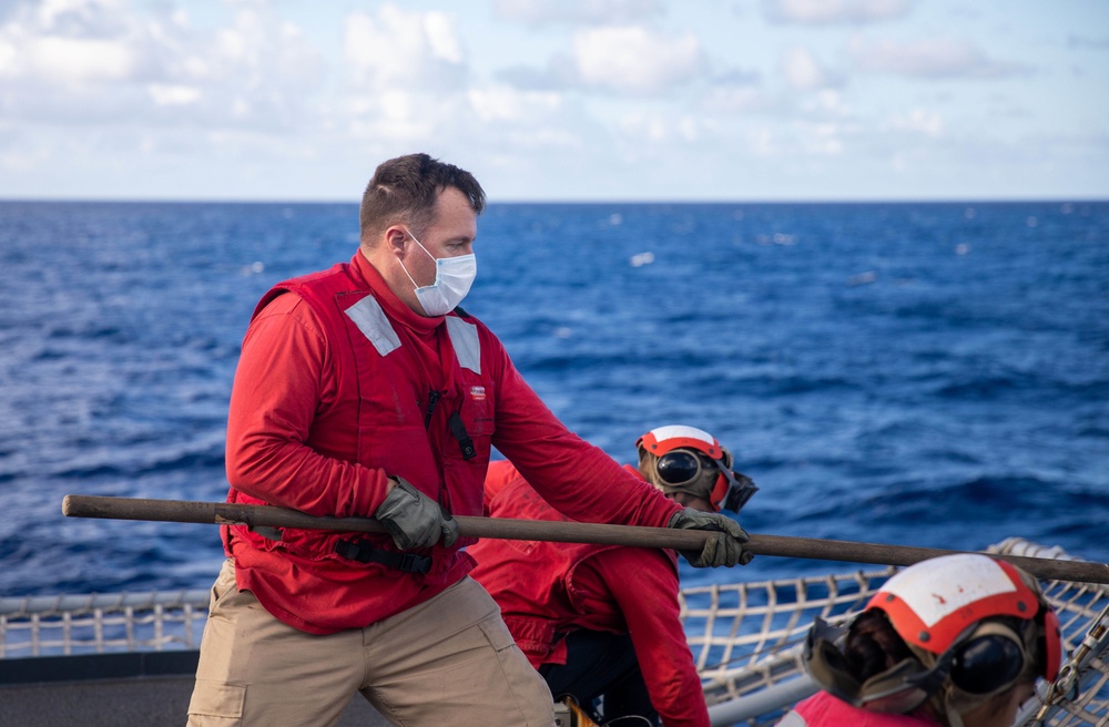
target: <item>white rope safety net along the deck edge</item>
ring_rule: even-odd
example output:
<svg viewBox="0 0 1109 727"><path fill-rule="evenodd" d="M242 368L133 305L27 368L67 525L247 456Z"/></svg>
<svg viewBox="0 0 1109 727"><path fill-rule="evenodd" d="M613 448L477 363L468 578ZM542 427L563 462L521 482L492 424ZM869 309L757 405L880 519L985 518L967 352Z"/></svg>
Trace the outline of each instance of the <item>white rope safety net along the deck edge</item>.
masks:
<svg viewBox="0 0 1109 727"><path fill-rule="evenodd" d="M1075 560L1009 539L989 552ZM815 692L801 648L815 616L858 612L896 569L683 588L681 616L714 725L773 725ZM1041 581L1066 663L1018 725L1109 727L1109 586ZM208 591L0 598L0 658L196 649Z"/></svg>

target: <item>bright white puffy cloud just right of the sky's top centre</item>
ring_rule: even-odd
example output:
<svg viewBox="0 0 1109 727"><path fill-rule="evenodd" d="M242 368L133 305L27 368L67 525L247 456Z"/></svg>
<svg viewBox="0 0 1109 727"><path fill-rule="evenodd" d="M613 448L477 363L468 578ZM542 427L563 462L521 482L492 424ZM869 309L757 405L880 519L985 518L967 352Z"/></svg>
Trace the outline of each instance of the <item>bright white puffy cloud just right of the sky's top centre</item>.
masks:
<svg viewBox="0 0 1109 727"><path fill-rule="evenodd" d="M665 35L641 27L579 30L573 54L583 83L632 94L683 83L698 75L702 63L693 33Z"/></svg>

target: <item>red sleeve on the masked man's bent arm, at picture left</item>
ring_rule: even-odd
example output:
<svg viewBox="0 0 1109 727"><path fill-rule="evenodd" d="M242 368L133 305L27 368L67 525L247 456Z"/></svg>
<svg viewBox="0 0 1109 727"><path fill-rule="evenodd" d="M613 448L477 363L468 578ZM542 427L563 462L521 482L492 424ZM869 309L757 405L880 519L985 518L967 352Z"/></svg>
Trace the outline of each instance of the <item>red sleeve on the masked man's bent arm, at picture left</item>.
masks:
<svg viewBox="0 0 1109 727"><path fill-rule="evenodd" d="M384 500L380 470L321 454L305 442L336 396L318 319L295 294L251 322L227 416L227 481L235 490L314 515L369 515Z"/></svg>

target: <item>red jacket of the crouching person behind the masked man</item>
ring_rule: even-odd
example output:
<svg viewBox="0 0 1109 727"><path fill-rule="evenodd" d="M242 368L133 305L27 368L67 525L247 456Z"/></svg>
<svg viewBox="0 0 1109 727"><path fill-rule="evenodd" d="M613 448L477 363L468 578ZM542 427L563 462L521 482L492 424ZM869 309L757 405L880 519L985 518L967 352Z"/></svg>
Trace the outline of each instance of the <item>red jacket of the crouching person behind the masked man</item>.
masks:
<svg viewBox="0 0 1109 727"><path fill-rule="evenodd" d="M489 465L486 514L566 520L509 462ZM679 618L672 551L482 540L468 552L477 561L471 575L500 604L532 666L566 664L564 637L579 628L630 634L662 723L708 727L701 679Z"/></svg>

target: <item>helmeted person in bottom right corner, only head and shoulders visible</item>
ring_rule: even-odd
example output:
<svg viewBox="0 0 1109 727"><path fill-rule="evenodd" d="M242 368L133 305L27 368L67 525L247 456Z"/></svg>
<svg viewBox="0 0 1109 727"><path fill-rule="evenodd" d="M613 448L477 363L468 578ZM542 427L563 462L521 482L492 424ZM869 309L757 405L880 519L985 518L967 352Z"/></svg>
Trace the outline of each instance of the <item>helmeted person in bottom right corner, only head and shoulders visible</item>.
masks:
<svg viewBox="0 0 1109 727"><path fill-rule="evenodd" d="M976 553L930 559L891 577L851 623L816 618L804 664L823 690L779 727L1009 727L1061 654L1032 576Z"/></svg>

